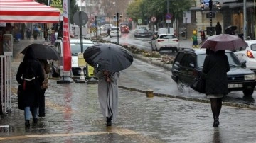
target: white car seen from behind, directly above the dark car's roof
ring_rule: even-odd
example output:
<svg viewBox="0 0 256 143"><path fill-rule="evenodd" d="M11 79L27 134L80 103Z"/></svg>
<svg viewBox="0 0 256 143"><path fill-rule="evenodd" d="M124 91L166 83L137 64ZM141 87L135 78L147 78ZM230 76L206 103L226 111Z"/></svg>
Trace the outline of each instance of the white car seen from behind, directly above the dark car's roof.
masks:
<svg viewBox="0 0 256 143"><path fill-rule="evenodd" d="M152 39L152 51L171 50L172 52L179 50L178 38L173 34L159 34Z"/></svg>

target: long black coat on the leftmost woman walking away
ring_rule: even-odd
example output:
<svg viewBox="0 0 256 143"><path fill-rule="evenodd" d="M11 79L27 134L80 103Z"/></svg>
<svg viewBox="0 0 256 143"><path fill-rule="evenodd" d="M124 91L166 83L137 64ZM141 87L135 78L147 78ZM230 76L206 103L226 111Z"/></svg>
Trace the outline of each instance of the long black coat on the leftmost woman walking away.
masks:
<svg viewBox="0 0 256 143"><path fill-rule="evenodd" d="M36 75L36 79L33 80L32 85L26 84L26 90L22 91L20 97L20 102L18 104L22 104L22 107L38 107L39 103L39 96L41 94L41 84L44 80L44 74L43 69L41 67L41 63L38 61L38 59L35 58L33 54L33 49L30 47L26 51L25 57L23 59L23 62L18 67L18 72L16 74L16 80L18 81L18 84L21 84L23 86L23 74L26 74L26 64L31 65L34 74Z"/></svg>

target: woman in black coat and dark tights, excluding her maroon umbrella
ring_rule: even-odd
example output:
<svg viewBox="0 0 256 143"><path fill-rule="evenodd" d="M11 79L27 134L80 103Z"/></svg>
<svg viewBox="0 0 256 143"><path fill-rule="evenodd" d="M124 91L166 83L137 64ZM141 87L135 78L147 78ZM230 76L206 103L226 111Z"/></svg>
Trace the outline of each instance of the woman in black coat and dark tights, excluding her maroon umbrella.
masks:
<svg viewBox="0 0 256 143"><path fill-rule="evenodd" d="M218 127L222 98L228 94L228 76L230 70L225 50L208 54L203 63L203 73L206 74L206 96L210 98L213 112L213 127Z"/></svg>

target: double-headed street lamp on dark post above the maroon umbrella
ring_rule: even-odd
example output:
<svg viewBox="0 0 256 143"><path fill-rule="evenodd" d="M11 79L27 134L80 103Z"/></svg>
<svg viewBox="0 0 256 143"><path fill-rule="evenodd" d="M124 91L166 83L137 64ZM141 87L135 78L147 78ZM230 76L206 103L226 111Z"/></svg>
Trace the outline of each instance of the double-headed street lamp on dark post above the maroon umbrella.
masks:
<svg viewBox="0 0 256 143"><path fill-rule="evenodd" d="M213 20L212 20L212 18L213 18L213 10L212 9L213 9L213 6L216 6L216 8L218 10L220 10L221 6L220 6L220 2L215 1L215 4L213 4L213 1L210 0L209 1L209 5L206 4L205 2L201 3L201 5L200 5L201 11L205 10L205 5L209 6L209 9L210 9L210 36L212 36L213 35L213 30L212 30L212 27L213 27Z"/></svg>

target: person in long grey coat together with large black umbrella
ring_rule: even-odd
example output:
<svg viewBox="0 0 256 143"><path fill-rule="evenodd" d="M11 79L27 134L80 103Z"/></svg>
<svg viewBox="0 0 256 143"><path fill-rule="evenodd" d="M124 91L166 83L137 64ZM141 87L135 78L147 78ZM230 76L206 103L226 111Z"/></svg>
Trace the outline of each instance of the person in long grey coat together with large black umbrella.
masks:
<svg viewBox="0 0 256 143"><path fill-rule="evenodd" d="M83 56L95 68L100 107L107 126L111 126L117 117L119 71L132 65L132 53L120 45L99 44L88 47Z"/></svg>

